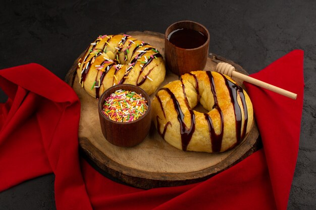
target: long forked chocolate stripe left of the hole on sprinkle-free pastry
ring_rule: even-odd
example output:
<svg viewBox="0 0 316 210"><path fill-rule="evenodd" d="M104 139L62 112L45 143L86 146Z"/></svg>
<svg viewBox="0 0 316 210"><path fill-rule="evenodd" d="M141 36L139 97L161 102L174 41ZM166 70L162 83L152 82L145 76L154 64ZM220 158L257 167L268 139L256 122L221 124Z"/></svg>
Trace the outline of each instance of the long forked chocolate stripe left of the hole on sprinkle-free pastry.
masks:
<svg viewBox="0 0 316 210"><path fill-rule="evenodd" d="M188 147L188 145L189 145L189 143L191 141L193 132L195 130L195 115L194 115L194 112L191 109L189 109L189 112L190 112L190 115L191 115L190 116L191 117L191 126L190 126L190 128L188 128L186 126L186 124L184 123L184 114L183 114L183 112L181 110L180 104L177 101L175 95L168 88L162 88L160 90L167 91L167 93L170 95L170 97L171 97L171 99L173 101L175 110L177 111L177 114L178 114L178 120L180 122L180 134L181 134L182 150L186 151L187 147Z"/></svg>

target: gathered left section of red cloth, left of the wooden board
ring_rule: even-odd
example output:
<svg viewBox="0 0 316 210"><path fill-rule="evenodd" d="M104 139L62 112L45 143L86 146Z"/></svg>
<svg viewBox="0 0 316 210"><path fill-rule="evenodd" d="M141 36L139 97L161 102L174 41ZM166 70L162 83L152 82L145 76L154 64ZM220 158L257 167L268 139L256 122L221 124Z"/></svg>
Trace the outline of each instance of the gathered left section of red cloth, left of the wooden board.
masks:
<svg viewBox="0 0 316 210"><path fill-rule="evenodd" d="M80 171L75 92L36 63L1 70L0 84L9 97L0 130L0 180L6 180L0 191L55 173L57 209L92 209Z"/></svg>

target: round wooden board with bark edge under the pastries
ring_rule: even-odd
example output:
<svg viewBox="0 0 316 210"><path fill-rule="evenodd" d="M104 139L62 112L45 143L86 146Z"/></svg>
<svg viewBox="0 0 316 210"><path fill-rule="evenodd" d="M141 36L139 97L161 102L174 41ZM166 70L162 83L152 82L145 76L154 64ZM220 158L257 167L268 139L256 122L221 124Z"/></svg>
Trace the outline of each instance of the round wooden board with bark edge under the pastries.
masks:
<svg viewBox="0 0 316 210"><path fill-rule="evenodd" d="M133 31L127 34L150 43L164 56L163 34L149 31ZM240 65L212 53L207 58L204 70L214 70L217 64L215 60L228 62L236 68L236 71L247 74ZM240 145L224 153L209 154L178 150L164 141L153 123L149 134L140 145L132 148L114 146L102 135L97 100L79 85L76 65L77 60L65 80L81 101L79 146L84 156L107 176L111 175L116 180L142 189L196 183L224 171L257 150L259 132L255 124ZM244 88L242 81L233 79ZM161 87L174 80L178 80L178 76L167 69ZM151 99L154 95L151 95ZM199 106L195 110L201 111L202 108Z"/></svg>

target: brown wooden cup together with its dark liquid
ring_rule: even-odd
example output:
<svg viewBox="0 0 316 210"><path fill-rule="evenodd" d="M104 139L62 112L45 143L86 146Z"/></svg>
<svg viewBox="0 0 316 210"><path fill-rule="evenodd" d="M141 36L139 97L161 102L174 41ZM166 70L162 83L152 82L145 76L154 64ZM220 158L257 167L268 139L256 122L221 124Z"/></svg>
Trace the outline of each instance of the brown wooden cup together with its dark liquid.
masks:
<svg viewBox="0 0 316 210"><path fill-rule="evenodd" d="M165 32L167 68L177 75L203 70L208 45L209 32L203 25L193 21L170 25Z"/></svg>

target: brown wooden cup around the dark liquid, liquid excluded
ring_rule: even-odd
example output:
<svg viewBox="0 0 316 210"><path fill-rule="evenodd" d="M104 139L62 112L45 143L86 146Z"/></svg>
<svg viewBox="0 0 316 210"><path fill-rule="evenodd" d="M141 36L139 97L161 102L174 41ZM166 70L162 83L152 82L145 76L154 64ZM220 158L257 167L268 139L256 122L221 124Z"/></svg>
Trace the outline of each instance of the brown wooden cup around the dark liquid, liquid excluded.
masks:
<svg viewBox="0 0 316 210"><path fill-rule="evenodd" d="M200 32L205 36L206 41L196 48L178 47L169 41L168 36L179 29ZM193 21L180 21L170 25L165 32L165 57L168 69L176 75L203 70L208 56L208 45L209 32L205 26Z"/></svg>

